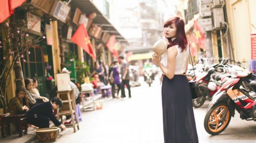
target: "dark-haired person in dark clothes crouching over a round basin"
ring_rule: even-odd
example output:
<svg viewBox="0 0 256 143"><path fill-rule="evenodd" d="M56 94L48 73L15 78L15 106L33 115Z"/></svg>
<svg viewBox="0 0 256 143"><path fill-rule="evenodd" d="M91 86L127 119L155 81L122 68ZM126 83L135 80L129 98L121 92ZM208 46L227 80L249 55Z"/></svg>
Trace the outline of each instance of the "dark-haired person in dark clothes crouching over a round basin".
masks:
<svg viewBox="0 0 256 143"><path fill-rule="evenodd" d="M53 109L57 109L61 106L62 101L58 97L52 98L49 102L35 105L27 112L28 123L38 126L39 128L49 128L50 119L55 126L59 126L61 129L65 130L66 126L61 124L53 115Z"/></svg>

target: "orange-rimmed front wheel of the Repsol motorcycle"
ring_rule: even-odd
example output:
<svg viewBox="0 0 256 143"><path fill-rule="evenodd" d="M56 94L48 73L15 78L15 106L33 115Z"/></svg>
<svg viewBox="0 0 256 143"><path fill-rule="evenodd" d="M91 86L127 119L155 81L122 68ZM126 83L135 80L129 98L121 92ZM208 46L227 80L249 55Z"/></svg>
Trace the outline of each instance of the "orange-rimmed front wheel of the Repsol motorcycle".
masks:
<svg viewBox="0 0 256 143"><path fill-rule="evenodd" d="M231 115L230 109L228 109L226 118L223 122L219 119L224 116L224 111L228 109L226 103L217 104L209 109L204 118L204 129L211 135L218 135L223 132L230 123Z"/></svg>

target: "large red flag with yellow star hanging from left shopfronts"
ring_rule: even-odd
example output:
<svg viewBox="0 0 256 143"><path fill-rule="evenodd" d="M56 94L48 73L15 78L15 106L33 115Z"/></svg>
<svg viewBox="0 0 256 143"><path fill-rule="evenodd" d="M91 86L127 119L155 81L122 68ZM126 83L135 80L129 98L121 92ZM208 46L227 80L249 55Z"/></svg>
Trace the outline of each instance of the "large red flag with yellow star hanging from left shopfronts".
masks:
<svg viewBox="0 0 256 143"><path fill-rule="evenodd" d="M93 51L93 46L90 43L90 38L88 36L86 28L84 28L83 23L77 28L75 34L71 38L71 41L83 48L84 51L88 53L93 59L96 59Z"/></svg>

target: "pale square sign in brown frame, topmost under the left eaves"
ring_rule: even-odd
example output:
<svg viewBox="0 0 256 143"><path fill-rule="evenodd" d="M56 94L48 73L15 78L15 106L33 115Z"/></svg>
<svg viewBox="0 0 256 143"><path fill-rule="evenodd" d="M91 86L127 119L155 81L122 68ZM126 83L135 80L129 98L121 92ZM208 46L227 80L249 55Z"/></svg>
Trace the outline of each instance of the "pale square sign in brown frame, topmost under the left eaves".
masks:
<svg viewBox="0 0 256 143"><path fill-rule="evenodd" d="M53 17L65 23L69 11L70 11L69 6L67 6L65 3L61 1L56 0L52 6L52 10L50 14L53 15Z"/></svg>

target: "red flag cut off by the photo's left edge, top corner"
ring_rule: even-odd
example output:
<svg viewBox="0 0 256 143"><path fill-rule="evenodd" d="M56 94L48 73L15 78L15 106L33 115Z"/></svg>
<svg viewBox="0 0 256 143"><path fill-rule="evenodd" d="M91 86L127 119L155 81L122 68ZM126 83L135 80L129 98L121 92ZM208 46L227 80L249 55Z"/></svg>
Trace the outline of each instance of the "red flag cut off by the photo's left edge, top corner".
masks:
<svg viewBox="0 0 256 143"><path fill-rule="evenodd" d="M0 0L0 23L12 15L9 0Z"/></svg>

